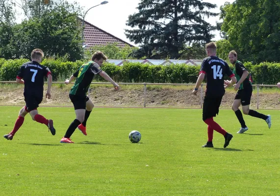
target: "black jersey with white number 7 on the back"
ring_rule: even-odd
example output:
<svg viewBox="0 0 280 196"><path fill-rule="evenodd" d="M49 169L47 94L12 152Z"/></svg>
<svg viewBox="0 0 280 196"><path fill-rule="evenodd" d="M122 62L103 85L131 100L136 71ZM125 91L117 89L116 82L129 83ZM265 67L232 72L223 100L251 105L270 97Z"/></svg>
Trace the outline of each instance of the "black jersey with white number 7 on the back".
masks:
<svg viewBox="0 0 280 196"><path fill-rule="evenodd" d="M25 95L36 94L43 96L44 77L51 74L48 67L41 65L36 61L29 61L22 65L17 78L25 81Z"/></svg>

